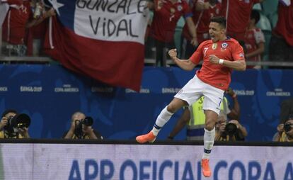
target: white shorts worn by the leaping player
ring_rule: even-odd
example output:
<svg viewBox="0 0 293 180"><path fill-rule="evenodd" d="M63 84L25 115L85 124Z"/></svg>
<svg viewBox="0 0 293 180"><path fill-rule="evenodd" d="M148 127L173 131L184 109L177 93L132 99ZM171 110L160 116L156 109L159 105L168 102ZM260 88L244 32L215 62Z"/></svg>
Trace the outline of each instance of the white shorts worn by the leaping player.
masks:
<svg viewBox="0 0 293 180"><path fill-rule="evenodd" d="M224 90L201 81L196 75L174 97L186 101L191 106L201 96L205 96L203 110L212 110L219 115Z"/></svg>

